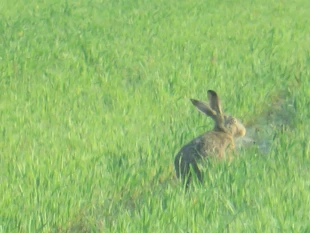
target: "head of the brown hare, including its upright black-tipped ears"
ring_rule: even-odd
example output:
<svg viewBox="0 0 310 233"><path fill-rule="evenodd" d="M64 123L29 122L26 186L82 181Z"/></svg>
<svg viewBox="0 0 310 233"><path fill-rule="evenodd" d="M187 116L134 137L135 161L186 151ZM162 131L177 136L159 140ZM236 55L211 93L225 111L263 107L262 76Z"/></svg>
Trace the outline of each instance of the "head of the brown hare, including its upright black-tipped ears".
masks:
<svg viewBox="0 0 310 233"><path fill-rule="evenodd" d="M231 134L233 137L242 137L246 133L246 129L241 122L235 117L226 116L222 112L220 98L215 91L208 90L209 104L191 99L192 103L207 116L214 120L215 131L223 131Z"/></svg>

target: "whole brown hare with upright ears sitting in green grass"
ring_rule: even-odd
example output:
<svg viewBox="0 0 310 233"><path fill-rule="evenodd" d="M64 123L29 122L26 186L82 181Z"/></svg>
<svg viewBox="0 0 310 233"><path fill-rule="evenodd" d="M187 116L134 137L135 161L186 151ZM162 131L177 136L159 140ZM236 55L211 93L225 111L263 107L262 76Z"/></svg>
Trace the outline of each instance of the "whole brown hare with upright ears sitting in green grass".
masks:
<svg viewBox="0 0 310 233"><path fill-rule="evenodd" d="M191 101L199 111L213 119L213 130L183 146L174 160L176 175L186 183L186 187L192 179L191 171L196 174L199 181L202 181L197 165L199 159L207 156L222 158L226 151L231 154L234 149L234 138L242 137L246 133L245 127L236 118L223 114L220 99L215 91L208 90L208 98L209 104L195 99Z"/></svg>

